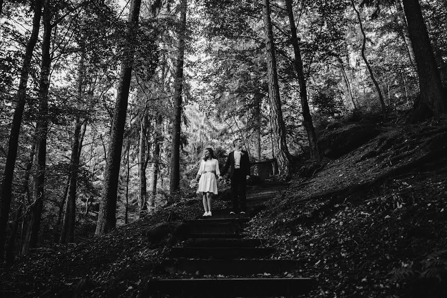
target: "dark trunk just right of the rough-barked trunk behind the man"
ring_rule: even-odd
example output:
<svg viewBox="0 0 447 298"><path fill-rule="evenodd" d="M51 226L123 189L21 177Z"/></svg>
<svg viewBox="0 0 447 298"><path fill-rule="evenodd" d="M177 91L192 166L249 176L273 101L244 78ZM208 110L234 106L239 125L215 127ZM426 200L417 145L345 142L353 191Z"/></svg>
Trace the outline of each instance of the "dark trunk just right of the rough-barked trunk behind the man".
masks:
<svg viewBox="0 0 447 298"><path fill-rule="evenodd" d="M318 162L321 161L321 153L318 148L315 128L312 123L312 116L310 115L309 103L307 101L307 89L304 79L304 72L302 70L301 50L299 49L299 41L297 37L297 27L295 26L294 12L292 9L292 0L286 0L287 10L289 12L290 30L292 34L292 45L295 52L295 71L298 74L299 83L299 97L301 98L301 108L303 124L307 132L307 140L309 141L310 157L315 158Z"/></svg>

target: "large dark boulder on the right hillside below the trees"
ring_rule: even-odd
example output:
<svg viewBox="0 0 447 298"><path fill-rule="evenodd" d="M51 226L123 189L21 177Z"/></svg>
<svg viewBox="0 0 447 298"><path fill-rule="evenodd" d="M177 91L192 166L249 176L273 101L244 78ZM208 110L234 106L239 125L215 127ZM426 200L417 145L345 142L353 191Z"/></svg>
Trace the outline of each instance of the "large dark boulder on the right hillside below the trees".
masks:
<svg viewBox="0 0 447 298"><path fill-rule="evenodd" d="M379 134L375 126L365 123L331 128L323 131L318 146L324 155L332 159L357 149Z"/></svg>

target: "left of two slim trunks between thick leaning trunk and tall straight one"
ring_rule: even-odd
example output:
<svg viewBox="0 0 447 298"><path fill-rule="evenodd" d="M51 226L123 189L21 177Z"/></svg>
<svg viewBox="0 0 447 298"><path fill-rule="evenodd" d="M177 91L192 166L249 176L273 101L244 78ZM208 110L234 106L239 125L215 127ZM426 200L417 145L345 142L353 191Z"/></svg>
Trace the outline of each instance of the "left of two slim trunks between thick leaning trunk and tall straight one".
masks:
<svg viewBox="0 0 447 298"><path fill-rule="evenodd" d="M148 116L143 115L140 120L140 149L139 149L140 191L139 191L138 207L140 208L140 218L143 216L144 211L147 209L147 202L148 202L148 191L146 186L146 167L148 165L148 158L146 155L147 130L148 130Z"/></svg>

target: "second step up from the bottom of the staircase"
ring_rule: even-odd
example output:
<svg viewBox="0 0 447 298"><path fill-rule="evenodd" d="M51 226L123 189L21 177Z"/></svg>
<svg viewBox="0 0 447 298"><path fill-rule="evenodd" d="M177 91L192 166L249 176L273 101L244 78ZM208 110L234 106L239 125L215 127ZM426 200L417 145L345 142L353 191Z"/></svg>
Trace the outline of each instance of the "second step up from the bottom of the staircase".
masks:
<svg viewBox="0 0 447 298"><path fill-rule="evenodd" d="M246 276L253 274L282 274L299 269L297 260L166 260L163 267L170 273L200 275Z"/></svg>

